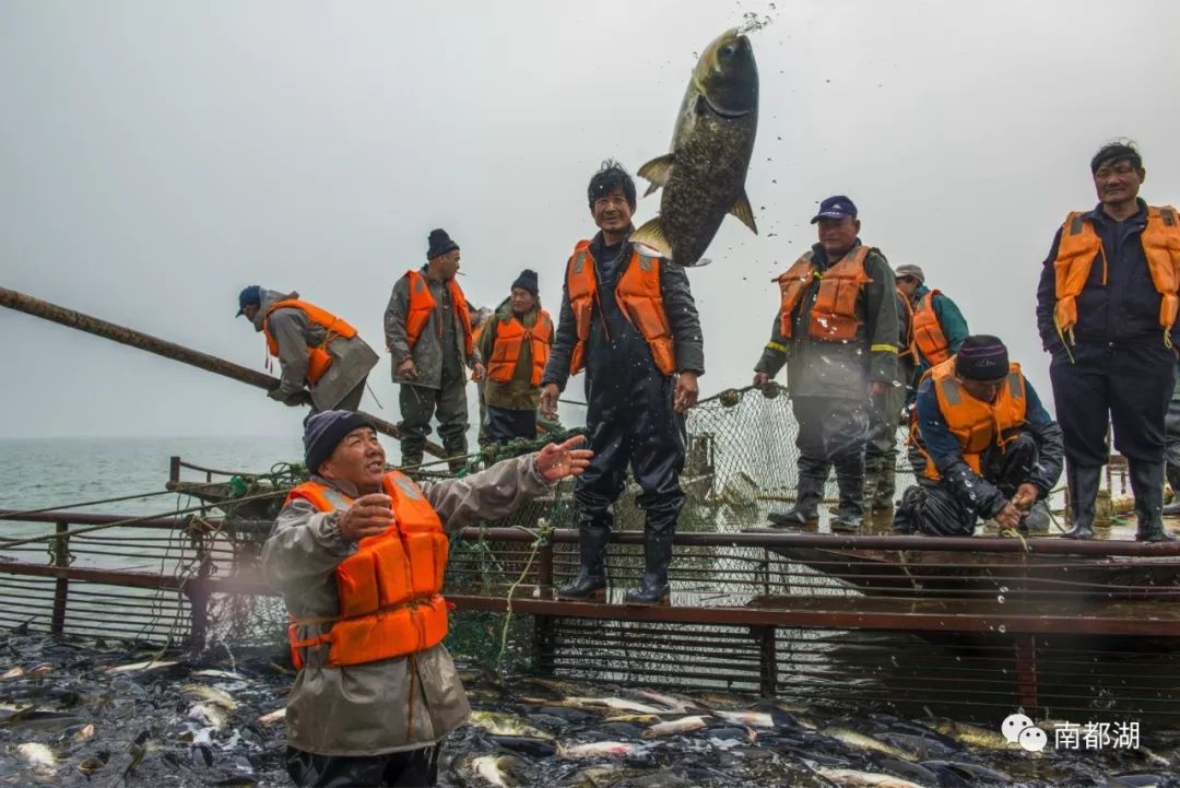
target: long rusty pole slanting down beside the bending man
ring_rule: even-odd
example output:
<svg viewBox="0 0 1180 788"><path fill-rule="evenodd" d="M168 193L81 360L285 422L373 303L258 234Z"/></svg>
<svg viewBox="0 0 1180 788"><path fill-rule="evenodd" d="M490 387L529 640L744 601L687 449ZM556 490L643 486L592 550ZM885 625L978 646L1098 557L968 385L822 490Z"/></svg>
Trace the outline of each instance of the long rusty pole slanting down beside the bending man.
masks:
<svg viewBox="0 0 1180 788"><path fill-rule="evenodd" d="M59 323L79 331L86 331L87 334L93 334L94 336L101 336L103 339L111 340L112 342L119 342L120 344L139 348L140 350L146 350L148 353L155 353L158 356L164 356L165 359L171 359L172 361L179 361L181 363L186 363L191 367L197 367L198 369L204 369L205 372L211 372L216 375L222 375L248 386L255 386L267 390L278 386L277 377L271 377L270 375L255 369L236 365L232 361L225 361L224 359L219 359L208 353L192 350L191 348L186 348L182 344L169 342L168 340L162 340L157 336L151 336L150 334L126 328L125 326L110 323L105 320L92 317L91 315L85 315L66 307L59 307L55 303L41 301L40 298L34 298L31 295L18 293L17 290L9 290L8 288L0 288L0 307L8 307L9 309L22 311L26 315L33 315L34 317ZM391 423L385 419L378 419L376 416L367 413L363 415L373 422L379 433L399 440L401 439L401 429L399 429L396 425ZM442 452L442 447L433 441L426 441L426 452L433 457L446 457Z"/></svg>

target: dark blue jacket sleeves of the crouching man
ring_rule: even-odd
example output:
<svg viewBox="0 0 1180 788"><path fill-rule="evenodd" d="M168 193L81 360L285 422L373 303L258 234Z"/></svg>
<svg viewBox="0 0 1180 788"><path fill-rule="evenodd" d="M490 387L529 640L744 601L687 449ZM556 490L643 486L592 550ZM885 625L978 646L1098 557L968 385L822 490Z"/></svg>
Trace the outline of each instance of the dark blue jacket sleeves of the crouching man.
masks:
<svg viewBox="0 0 1180 788"><path fill-rule="evenodd" d="M1061 427L1041 405L1032 383L1024 379L1024 429L1032 435L1040 447L1041 458L1028 479L1041 493L1049 494L1061 477L1066 446ZM951 434L943 412L938 407L933 377L926 377L918 386L918 429L922 445L938 468L943 484L950 485L956 498L984 517L995 517L1008 503L994 484L977 474L963 459L958 439Z"/></svg>

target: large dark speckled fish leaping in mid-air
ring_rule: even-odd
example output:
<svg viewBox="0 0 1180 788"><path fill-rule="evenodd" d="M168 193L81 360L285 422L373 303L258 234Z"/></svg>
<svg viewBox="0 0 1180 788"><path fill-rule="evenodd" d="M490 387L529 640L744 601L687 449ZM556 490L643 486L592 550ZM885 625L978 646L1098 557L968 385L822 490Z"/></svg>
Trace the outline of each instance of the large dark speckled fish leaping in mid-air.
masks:
<svg viewBox="0 0 1180 788"><path fill-rule="evenodd" d="M758 132L758 65L746 35L729 29L704 48L684 91L671 151L640 168L663 188L660 216L631 234L680 265L696 265L733 214L754 234L746 170Z"/></svg>

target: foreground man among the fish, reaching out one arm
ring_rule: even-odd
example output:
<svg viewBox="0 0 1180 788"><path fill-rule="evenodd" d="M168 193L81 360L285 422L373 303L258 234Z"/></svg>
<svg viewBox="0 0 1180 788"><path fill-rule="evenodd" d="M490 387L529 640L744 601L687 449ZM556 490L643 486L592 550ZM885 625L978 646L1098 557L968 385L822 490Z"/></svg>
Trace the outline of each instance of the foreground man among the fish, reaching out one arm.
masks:
<svg viewBox="0 0 1180 788"><path fill-rule="evenodd" d="M447 534L511 514L581 473L583 439L464 479L387 472L367 419L313 415L309 481L287 497L262 550L290 613L299 670L287 700L296 786L434 786L439 742L471 709L442 645Z"/></svg>

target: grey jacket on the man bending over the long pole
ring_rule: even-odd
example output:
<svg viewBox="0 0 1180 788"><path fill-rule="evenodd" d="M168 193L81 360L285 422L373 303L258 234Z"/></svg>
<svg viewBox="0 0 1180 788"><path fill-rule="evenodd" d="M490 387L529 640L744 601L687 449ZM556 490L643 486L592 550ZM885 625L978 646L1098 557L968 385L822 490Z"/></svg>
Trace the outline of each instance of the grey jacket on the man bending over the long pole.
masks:
<svg viewBox="0 0 1180 788"><path fill-rule="evenodd" d="M290 294L263 290L262 306L254 317L254 330L262 331L262 321L270 304L288 297ZM276 309L268 326L278 343L278 366L282 368L278 390L287 395L297 394L307 386L307 349L323 343L324 330L312 323L302 309ZM336 337L328 343L328 355L332 356L332 366L315 386L309 387L312 401L319 411L334 408L368 376L379 357L360 335L350 340Z"/></svg>

